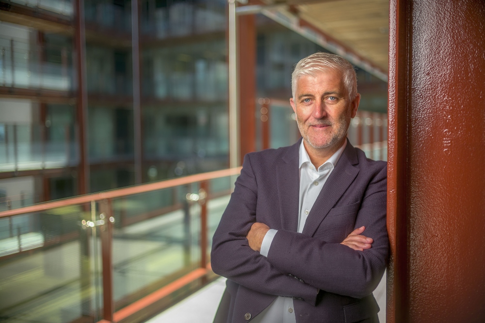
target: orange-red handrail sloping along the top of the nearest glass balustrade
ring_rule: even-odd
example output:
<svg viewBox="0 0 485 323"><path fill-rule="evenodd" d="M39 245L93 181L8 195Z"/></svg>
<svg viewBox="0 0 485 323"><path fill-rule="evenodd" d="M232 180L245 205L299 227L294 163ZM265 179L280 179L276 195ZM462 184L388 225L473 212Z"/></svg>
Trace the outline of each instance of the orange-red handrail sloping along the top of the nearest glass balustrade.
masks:
<svg viewBox="0 0 485 323"><path fill-rule="evenodd" d="M56 200L45 203L39 203L31 206L25 206L14 210L6 210L0 212L0 218L12 215L20 215L26 213L40 212L49 210L52 208L75 205L81 203L90 203L93 201L120 198L127 195L133 195L138 193L145 193L153 190L159 190L164 188L170 188L179 185L187 185L196 182L208 181L220 177L226 177L231 175L238 175L241 172L242 167L235 167L230 169L222 169L211 171L207 173L194 174L169 180L163 180L160 182L154 182L149 184L142 184L136 186L130 186L125 188L114 189L110 191L104 191L99 193L91 193L86 195L80 195L74 198L68 198L64 200Z"/></svg>

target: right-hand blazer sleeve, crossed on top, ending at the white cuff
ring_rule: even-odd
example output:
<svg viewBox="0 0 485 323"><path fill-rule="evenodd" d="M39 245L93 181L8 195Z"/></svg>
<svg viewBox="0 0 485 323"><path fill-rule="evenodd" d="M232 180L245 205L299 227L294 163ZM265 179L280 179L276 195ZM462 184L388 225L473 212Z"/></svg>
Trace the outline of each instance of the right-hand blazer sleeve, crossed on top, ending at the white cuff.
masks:
<svg viewBox="0 0 485 323"><path fill-rule="evenodd" d="M357 213L355 229L373 239L372 247L357 251L302 233L278 230L268 252L276 269L299 277L325 292L363 298L377 287L388 261L386 227L386 167L368 185Z"/></svg>

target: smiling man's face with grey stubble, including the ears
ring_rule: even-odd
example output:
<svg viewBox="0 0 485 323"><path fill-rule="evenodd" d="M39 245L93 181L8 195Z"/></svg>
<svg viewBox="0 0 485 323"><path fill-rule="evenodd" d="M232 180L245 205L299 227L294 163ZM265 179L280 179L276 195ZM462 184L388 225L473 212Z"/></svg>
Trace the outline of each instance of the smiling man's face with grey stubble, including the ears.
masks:
<svg viewBox="0 0 485 323"><path fill-rule="evenodd" d="M350 101L342 74L329 69L315 77L298 78L295 98L290 99L290 104L306 143L316 149L325 149L345 138L359 101L360 94Z"/></svg>

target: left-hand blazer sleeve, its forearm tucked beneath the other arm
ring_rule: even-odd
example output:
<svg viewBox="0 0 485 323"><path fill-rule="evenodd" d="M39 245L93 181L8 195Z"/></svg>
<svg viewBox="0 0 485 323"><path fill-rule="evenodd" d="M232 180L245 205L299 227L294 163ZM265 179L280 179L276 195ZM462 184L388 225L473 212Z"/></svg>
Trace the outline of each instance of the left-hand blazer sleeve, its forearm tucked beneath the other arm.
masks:
<svg viewBox="0 0 485 323"><path fill-rule="evenodd" d="M318 288L283 274L249 246L246 235L256 222L257 192L256 177L246 154L241 175L214 233L212 270L253 291L301 298L315 305Z"/></svg>

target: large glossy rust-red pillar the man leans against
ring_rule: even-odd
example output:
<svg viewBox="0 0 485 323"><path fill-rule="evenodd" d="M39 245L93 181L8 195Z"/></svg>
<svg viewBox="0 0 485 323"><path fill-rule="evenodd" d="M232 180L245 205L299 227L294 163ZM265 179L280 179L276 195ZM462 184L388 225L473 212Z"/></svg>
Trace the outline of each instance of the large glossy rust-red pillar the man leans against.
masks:
<svg viewBox="0 0 485 323"><path fill-rule="evenodd" d="M485 2L391 0L387 322L485 318Z"/></svg>

